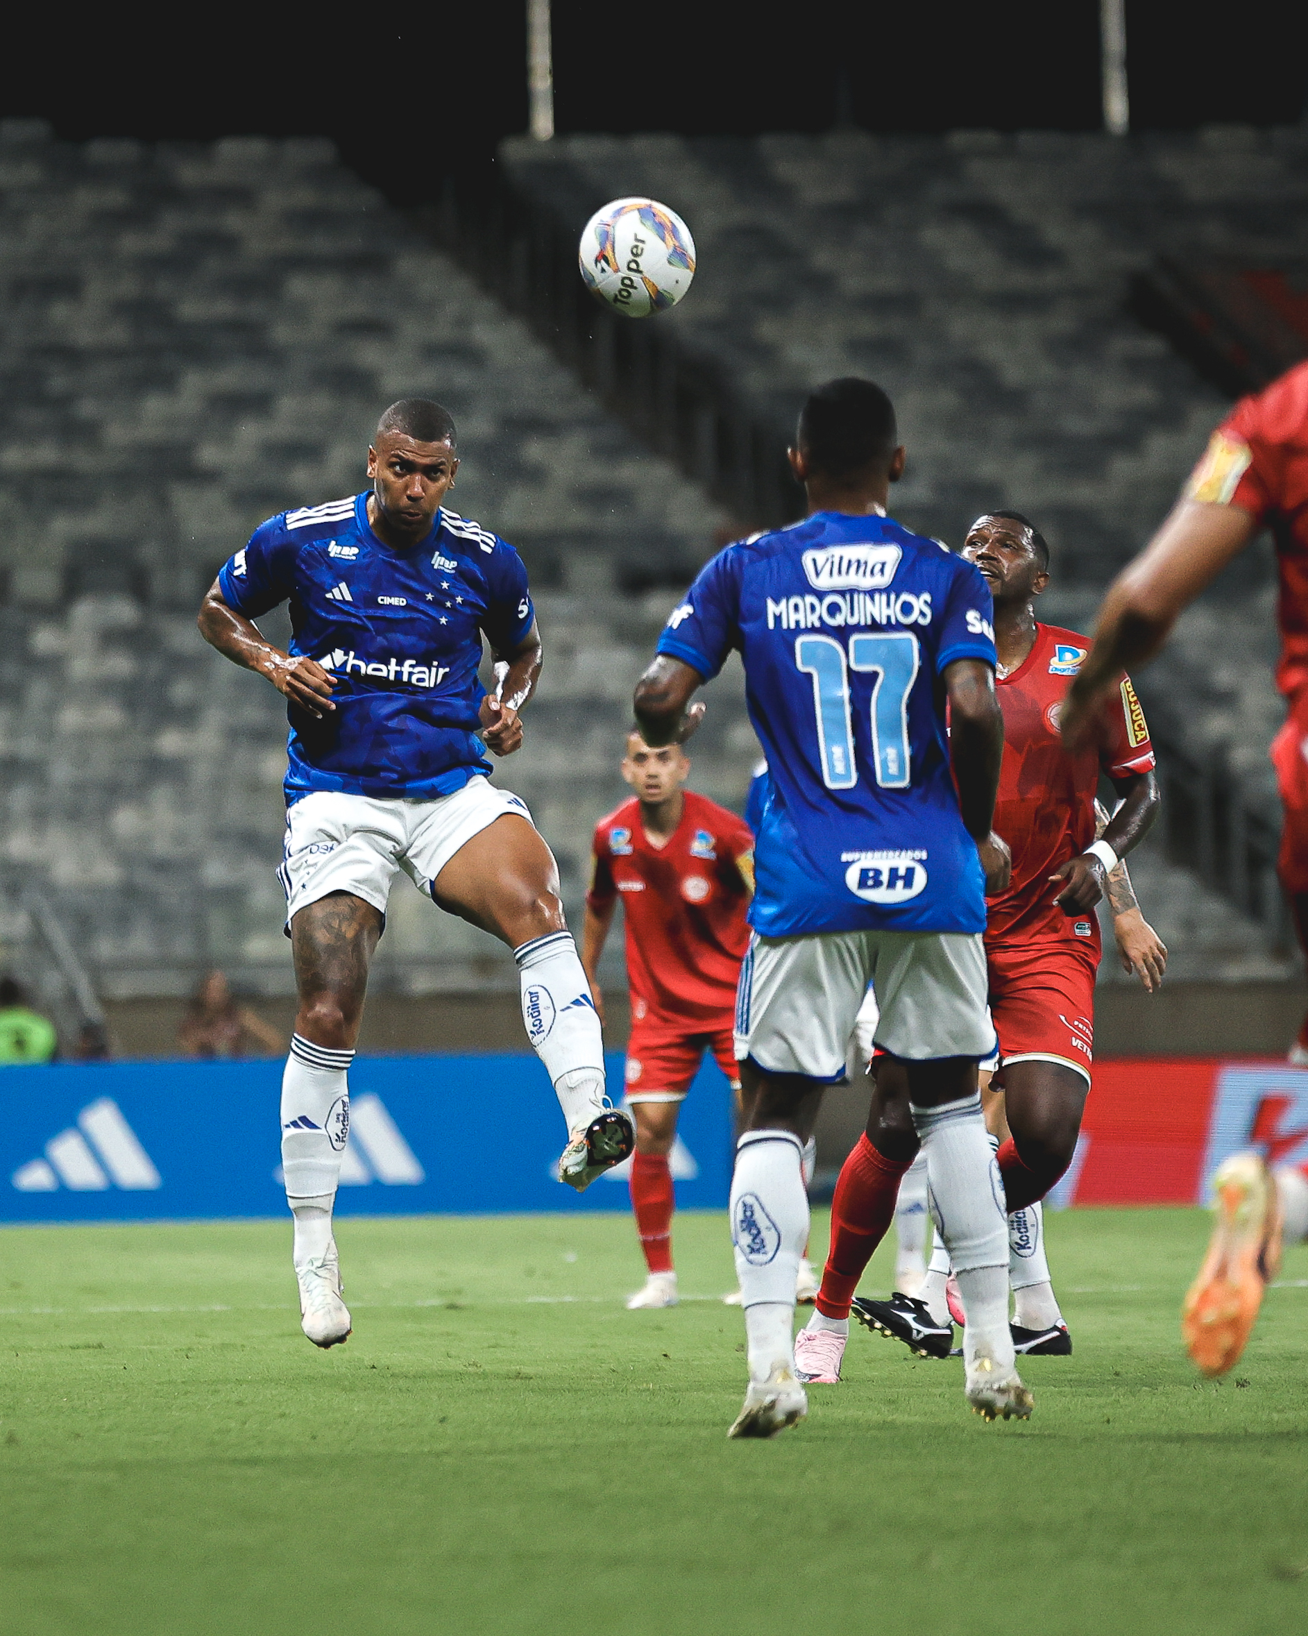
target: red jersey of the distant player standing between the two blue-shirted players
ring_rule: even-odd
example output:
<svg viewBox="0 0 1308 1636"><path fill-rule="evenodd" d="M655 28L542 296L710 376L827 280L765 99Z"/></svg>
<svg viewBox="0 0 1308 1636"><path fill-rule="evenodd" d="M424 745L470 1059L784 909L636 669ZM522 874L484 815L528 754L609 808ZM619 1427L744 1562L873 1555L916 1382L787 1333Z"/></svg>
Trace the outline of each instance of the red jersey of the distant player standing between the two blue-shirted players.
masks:
<svg viewBox="0 0 1308 1636"><path fill-rule="evenodd" d="M749 947L749 888L754 852L749 825L726 807L685 792L682 821L664 846L641 828L629 802L595 825L592 910L621 893L626 916L626 980L638 1018L672 1022L719 1021L736 1006L736 978Z"/></svg>

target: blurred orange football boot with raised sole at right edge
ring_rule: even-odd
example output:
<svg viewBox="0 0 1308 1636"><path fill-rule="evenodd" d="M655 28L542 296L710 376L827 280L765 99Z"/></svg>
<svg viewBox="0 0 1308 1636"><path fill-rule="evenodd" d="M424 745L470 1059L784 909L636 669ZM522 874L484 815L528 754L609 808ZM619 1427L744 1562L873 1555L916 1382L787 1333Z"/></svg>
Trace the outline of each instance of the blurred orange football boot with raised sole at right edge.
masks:
<svg viewBox="0 0 1308 1636"><path fill-rule="evenodd" d="M1233 1153L1213 1173L1216 1225L1198 1278L1180 1309L1180 1333L1212 1379L1239 1360L1280 1268L1280 1202L1257 1153Z"/></svg>

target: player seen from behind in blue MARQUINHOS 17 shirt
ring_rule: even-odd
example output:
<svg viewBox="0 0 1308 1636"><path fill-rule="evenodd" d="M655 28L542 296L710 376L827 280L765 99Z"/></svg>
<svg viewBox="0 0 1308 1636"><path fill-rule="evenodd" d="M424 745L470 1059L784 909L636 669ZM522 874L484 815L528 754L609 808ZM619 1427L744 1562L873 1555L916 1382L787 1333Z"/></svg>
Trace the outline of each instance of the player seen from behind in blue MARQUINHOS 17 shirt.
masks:
<svg viewBox="0 0 1308 1636"><path fill-rule="evenodd" d="M870 982L883 1073L906 1080L958 1271L968 1400L988 1420L1025 1417L1004 1189L976 1088L996 1049L984 893L1009 877L991 833L1004 748L991 592L974 564L886 517L904 450L878 386L822 386L795 442L808 517L714 556L636 687L646 743L680 743L703 715L695 690L739 649L768 766L736 1014L731 1235L749 1389L731 1435L772 1436L808 1412L793 1342L809 1220L800 1155L824 1088L845 1078ZM912 1153L876 1162L898 1181Z"/></svg>

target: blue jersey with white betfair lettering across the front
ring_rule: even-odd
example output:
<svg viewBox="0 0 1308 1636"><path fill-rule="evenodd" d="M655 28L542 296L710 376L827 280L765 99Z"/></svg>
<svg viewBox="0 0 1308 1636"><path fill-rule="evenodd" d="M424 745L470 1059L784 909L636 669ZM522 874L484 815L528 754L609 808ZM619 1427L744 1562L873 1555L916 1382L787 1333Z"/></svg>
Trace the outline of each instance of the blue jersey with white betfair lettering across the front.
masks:
<svg viewBox="0 0 1308 1636"><path fill-rule="evenodd" d="M319 721L289 707L286 802L314 790L450 795L490 762L477 738L482 631L515 648L535 612L522 558L458 512L397 551L368 524L368 494L260 524L221 569L229 607L257 618L289 600L291 653L337 679Z"/></svg>

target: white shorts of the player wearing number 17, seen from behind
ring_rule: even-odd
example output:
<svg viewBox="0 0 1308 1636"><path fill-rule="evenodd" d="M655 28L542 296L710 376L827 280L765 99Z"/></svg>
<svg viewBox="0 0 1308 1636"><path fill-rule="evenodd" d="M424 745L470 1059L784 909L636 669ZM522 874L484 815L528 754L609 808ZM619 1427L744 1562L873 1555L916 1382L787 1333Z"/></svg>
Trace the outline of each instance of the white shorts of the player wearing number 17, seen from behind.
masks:
<svg viewBox="0 0 1308 1636"><path fill-rule="evenodd" d="M754 939L736 993L737 1060L835 1085L868 983L881 1009L876 1044L891 1055L997 1050L979 933L835 931Z"/></svg>

